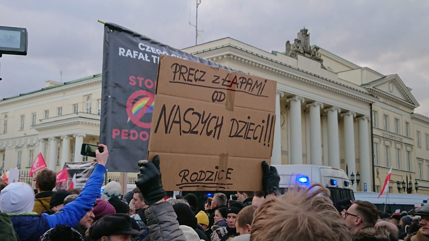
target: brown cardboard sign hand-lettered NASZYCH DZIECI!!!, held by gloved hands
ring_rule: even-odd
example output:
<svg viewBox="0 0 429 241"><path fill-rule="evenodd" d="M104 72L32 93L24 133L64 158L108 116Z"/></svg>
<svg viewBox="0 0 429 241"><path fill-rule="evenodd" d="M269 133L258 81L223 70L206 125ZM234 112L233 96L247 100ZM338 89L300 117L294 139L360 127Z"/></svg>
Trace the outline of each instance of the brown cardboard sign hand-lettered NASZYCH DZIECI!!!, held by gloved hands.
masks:
<svg viewBox="0 0 429 241"><path fill-rule="evenodd" d="M262 190L277 83L160 55L148 160L165 190Z"/></svg>

